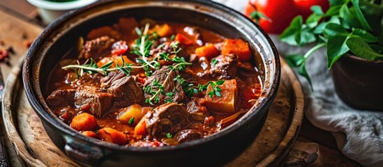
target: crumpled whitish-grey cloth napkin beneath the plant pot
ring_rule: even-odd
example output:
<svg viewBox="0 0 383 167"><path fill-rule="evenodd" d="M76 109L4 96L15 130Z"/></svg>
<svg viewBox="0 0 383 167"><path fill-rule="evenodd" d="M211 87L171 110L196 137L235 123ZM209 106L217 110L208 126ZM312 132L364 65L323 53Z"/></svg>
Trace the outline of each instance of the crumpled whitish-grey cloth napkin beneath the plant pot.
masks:
<svg viewBox="0 0 383 167"><path fill-rule="evenodd" d="M240 12L247 0L215 0ZM304 54L311 46L292 47L270 35L281 56ZM383 166L383 112L360 111L344 104L336 95L326 68L326 50L315 52L306 63L314 91L299 76L306 95L306 118L320 129L332 132L339 150L363 166ZM295 70L296 72L296 70Z"/></svg>

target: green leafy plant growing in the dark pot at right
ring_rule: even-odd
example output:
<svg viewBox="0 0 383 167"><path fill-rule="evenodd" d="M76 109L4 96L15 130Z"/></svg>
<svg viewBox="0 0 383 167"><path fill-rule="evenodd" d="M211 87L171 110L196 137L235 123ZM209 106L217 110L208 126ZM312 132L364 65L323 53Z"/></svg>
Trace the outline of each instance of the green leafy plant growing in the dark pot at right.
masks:
<svg viewBox="0 0 383 167"><path fill-rule="evenodd" d="M370 61L383 59L383 1L329 0L329 3L326 12L320 6L312 6L313 14L305 22L302 16L295 17L279 36L282 42L295 46L317 42L305 55L286 57L290 66L299 67L299 74L310 85L306 61L322 47L326 47L329 69L347 53Z"/></svg>

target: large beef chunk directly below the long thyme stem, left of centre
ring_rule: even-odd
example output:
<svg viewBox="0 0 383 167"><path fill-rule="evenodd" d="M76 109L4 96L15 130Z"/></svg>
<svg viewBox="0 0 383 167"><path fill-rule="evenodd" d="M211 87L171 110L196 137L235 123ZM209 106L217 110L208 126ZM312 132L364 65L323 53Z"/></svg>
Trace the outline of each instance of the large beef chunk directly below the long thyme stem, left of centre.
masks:
<svg viewBox="0 0 383 167"><path fill-rule="evenodd" d="M113 95L114 106L126 107L142 102L144 93L134 76L126 77L122 71L111 72L101 80L101 88Z"/></svg>

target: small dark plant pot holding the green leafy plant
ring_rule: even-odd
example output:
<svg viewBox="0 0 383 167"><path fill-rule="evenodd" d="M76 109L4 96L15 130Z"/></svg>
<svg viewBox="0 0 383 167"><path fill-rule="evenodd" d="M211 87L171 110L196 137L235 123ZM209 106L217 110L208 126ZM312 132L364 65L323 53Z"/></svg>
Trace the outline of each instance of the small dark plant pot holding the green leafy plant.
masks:
<svg viewBox="0 0 383 167"><path fill-rule="evenodd" d="M383 111L383 61L346 54L332 67L336 93L355 109Z"/></svg>

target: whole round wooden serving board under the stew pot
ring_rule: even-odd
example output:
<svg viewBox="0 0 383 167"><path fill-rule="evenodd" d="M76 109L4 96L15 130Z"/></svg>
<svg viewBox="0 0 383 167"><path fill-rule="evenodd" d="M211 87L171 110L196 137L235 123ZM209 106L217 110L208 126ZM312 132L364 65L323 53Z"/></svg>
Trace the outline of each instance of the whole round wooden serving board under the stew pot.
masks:
<svg viewBox="0 0 383 167"><path fill-rule="evenodd" d="M250 148L226 166L280 166L299 133L304 97L292 69L282 62L280 88L259 136ZM3 120L9 140L27 166L78 166L50 141L31 109L21 80L21 61L8 75ZM240 141L239 141L240 142ZM15 161L15 160L14 160Z"/></svg>

